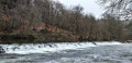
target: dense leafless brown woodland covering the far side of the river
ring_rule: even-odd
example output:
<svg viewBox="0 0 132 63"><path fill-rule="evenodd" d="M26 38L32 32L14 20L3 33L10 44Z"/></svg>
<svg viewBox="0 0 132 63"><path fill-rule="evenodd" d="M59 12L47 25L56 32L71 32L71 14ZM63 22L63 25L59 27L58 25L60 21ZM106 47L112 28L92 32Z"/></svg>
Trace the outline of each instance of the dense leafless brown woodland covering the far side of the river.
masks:
<svg viewBox="0 0 132 63"><path fill-rule="evenodd" d="M99 3L108 1L100 0ZM81 5L66 8L53 0L0 0L0 38L130 40L132 20L125 15L119 17L116 12L110 12L113 9L109 9L101 18L96 18L92 14L84 14Z"/></svg>

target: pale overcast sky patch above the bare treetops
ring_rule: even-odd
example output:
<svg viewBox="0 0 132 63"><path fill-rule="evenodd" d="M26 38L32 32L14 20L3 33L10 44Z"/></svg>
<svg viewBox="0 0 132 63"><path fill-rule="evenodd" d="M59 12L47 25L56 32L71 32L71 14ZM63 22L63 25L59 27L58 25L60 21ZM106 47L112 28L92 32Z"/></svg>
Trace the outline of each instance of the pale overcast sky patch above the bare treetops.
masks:
<svg viewBox="0 0 132 63"><path fill-rule="evenodd" d="M84 8L85 14L94 14L96 17L100 18L103 13L103 8L101 8L97 0L56 0L62 2L67 8L74 5L81 5Z"/></svg>

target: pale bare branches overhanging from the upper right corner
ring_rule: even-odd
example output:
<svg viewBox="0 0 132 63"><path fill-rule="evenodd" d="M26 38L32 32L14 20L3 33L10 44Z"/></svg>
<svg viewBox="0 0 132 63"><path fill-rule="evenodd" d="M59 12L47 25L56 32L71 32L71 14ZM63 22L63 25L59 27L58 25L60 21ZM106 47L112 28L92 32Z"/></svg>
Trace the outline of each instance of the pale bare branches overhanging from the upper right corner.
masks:
<svg viewBox="0 0 132 63"><path fill-rule="evenodd" d="M122 20L132 20L132 0L99 0L99 3L106 7L106 13Z"/></svg>

